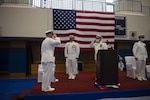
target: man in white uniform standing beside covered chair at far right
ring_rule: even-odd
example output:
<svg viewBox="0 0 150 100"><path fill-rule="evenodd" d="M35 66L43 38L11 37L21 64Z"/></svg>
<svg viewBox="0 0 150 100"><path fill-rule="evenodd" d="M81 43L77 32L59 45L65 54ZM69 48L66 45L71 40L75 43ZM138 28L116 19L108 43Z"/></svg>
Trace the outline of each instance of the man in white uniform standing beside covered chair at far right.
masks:
<svg viewBox="0 0 150 100"><path fill-rule="evenodd" d="M139 81L147 80L145 78L146 59L148 58L146 44L143 43L144 35L138 36L139 41L133 45L133 55L137 61L136 77Z"/></svg>

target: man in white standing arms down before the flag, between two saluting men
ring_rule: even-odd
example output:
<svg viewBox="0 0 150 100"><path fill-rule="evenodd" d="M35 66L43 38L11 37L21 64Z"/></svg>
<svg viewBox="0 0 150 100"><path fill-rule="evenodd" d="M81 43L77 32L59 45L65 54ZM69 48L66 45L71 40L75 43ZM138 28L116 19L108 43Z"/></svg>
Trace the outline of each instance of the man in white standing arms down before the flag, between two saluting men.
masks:
<svg viewBox="0 0 150 100"><path fill-rule="evenodd" d="M79 58L80 48L79 44L74 41L74 36L69 36L70 41L65 46L66 57L66 73L69 75L68 79L75 79L78 73L77 59Z"/></svg>

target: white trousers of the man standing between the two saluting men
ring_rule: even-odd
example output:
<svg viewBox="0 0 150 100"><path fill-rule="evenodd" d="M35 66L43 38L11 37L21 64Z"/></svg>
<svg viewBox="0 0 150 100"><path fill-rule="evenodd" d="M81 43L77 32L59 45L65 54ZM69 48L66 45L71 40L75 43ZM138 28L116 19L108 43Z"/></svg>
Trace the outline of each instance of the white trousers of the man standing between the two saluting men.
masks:
<svg viewBox="0 0 150 100"><path fill-rule="evenodd" d="M66 59L66 73L69 75L78 73L77 59Z"/></svg>

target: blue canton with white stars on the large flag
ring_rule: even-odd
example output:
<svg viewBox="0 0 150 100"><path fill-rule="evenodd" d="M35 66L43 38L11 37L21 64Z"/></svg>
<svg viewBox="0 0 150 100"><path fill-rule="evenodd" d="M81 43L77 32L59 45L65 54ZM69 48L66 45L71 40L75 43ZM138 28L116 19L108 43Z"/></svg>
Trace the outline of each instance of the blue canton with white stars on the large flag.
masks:
<svg viewBox="0 0 150 100"><path fill-rule="evenodd" d="M53 9L54 30L68 30L76 28L76 11Z"/></svg>

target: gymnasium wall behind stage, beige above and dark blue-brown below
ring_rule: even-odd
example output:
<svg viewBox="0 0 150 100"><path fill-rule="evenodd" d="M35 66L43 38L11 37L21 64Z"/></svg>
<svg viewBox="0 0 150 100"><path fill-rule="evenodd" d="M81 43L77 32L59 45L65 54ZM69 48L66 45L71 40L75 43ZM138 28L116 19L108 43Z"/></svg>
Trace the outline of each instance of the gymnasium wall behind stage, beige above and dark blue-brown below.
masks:
<svg viewBox="0 0 150 100"><path fill-rule="evenodd" d="M51 12L51 9L0 7L0 71L30 74L31 64L40 63L44 32L53 28ZM144 34L150 44L150 16L116 16L125 16L127 21L126 37L115 37L115 47L122 56L132 55L135 40L130 39L130 31ZM64 66L64 51L56 50L55 56L56 64ZM84 62L84 67L95 67L94 50L81 51L79 60Z"/></svg>

